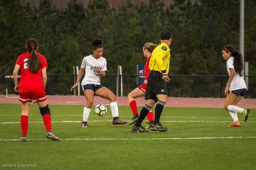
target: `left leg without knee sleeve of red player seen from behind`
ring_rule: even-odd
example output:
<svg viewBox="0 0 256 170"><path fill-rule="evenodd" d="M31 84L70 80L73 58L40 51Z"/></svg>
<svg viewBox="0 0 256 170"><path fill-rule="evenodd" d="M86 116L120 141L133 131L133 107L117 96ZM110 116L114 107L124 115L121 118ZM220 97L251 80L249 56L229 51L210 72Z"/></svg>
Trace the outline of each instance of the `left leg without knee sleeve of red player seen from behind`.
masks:
<svg viewBox="0 0 256 170"><path fill-rule="evenodd" d="M26 135L28 133L28 113L29 113L29 102L21 103L21 142L26 142Z"/></svg>

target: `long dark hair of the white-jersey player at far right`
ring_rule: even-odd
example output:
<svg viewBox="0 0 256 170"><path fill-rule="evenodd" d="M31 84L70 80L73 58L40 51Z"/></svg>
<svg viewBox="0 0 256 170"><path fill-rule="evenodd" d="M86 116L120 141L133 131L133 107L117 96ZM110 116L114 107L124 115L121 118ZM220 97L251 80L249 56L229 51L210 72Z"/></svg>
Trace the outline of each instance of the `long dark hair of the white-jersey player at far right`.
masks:
<svg viewBox="0 0 256 170"><path fill-rule="evenodd" d="M243 74L242 54L238 50L235 50L235 48L232 47L231 45L225 45L223 47L223 50L225 50L226 52L230 52L231 56L234 57L235 72L238 73L240 76L242 76Z"/></svg>

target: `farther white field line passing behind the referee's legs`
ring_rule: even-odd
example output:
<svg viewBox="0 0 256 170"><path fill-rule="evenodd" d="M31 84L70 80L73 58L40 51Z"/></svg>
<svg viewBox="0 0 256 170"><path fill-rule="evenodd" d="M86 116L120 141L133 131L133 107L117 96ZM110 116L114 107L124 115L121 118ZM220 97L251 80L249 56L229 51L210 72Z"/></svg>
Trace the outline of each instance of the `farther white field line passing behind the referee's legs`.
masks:
<svg viewBox="0 0 256 170"><path fill-rule="evenodd" d="M89 120L89 123L97 122L112 122L112 120ZM201 120L163 120L163 123L230 123L230 121L201 121ZM250 123L255 123L255 121L247 121ZM6 122L1 124L15 124L20 122ZM29 121L28 123L43 123L43 121ZM52 123L81 123L81 120L62 120L62 121L52 121Z"/></svg>

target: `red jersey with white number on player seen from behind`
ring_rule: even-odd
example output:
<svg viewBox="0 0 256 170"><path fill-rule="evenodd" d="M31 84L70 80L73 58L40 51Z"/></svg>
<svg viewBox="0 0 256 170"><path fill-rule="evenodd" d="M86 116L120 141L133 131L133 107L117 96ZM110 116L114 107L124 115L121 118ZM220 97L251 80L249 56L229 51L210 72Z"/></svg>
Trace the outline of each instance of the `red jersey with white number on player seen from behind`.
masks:
<svg viewBox="0 0 256 170"><path fill-rule="evenodd" d="M43 86L42 69L48 67L46 57L36 52L36 55L41 60L41 66L37 74L32 74L28 70L28 58L30 52L25 52L18 56L16 64L21 66L21 80L18 84L18 92L37 92L45 93L46 89Z"/></svg>

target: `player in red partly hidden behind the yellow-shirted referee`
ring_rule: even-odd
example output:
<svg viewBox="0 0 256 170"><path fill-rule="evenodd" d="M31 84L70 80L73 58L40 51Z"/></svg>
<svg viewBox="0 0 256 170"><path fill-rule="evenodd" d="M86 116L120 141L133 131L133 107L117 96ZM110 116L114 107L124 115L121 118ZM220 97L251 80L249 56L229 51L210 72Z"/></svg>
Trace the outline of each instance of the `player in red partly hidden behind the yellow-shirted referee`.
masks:
<svg viewBox="0 0 256 170"><path fill-rule="evenodd" d="M144 84L138 86L136 89L132 90L128 94L128 101L129 101L129 106L132 108L132 113L134 117L132 120L129 122L129 125L133 125L134 123L137 122L139 118L138 110L137 110L137 103L135 101L135 98L145 96L146 93L146 84L147 84L147 78L149 77L149 60L151 57L151 53L155 49L157 45L155 45L152 42L146 42L144 46L142 47L144 57L146 57L146 63L144 65ZM149 111L147 118L149 120L149 126L153 124L154 121L154 113L152 111Z"/></svg>

